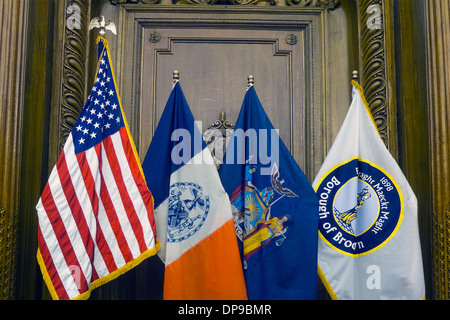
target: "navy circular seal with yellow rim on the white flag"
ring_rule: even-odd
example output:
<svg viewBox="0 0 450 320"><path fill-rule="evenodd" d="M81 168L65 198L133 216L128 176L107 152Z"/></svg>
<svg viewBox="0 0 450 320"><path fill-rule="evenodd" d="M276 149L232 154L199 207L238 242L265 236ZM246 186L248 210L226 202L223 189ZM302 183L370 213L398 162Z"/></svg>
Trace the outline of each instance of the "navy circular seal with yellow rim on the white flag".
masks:
<svg viewBox="0 0 450 320"><path fill-rule="evenodd" d="M333 249L362 256L394 236L403 218L403 196L383 168L352 158L324 175L316 186L319 235Z"/></svg>

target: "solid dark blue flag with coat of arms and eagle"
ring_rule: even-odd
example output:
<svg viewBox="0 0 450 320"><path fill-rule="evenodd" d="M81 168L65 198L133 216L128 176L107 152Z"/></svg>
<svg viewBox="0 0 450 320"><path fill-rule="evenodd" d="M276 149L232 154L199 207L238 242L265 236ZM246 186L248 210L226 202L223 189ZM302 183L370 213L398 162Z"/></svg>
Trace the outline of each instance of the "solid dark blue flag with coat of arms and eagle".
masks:
<svg viewBox="0 0 450 320"><path fill-rule="evenodd" d="M250 87L219 169L248 299L316 299L318 199Z"/></svg>

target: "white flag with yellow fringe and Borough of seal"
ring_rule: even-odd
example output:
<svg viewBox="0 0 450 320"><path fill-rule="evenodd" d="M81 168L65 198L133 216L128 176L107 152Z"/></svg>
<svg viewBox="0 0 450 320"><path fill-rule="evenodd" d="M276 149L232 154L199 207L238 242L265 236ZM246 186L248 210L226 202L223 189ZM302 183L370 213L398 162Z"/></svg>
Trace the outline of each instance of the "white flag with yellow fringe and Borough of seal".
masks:
<svg viewBox="0 0 450 320"><path fill-rule="evenodd" d="M319 275L333 299L423 299L417 200L361 87L313 186Z"/></svg>

